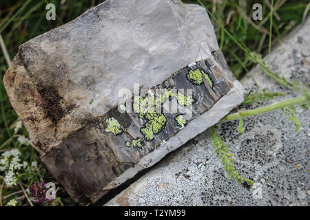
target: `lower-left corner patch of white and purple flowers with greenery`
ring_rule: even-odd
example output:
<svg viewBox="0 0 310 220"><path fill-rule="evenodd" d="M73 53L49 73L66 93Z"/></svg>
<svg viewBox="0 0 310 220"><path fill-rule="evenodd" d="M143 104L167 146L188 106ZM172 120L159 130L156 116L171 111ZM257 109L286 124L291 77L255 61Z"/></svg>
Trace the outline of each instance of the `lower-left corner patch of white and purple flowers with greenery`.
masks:
<svg viewBox="0 0 310 220"><path fill-rule="evenodd" d="M48 182L56 180L43 164L21 120L0 130L0 206L63 206L61 197L46 199L43 192L49 189L45 188ZM56 192L67 197L66 204L76 205L63 187L59 186Z"/></svg>

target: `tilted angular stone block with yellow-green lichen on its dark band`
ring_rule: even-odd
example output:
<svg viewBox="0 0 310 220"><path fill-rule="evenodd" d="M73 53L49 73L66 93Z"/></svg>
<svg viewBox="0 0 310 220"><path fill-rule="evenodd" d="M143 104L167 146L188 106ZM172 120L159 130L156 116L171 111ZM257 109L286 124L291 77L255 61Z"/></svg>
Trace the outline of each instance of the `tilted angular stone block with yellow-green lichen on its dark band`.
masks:
<svg viewBox="0 0 310 220"><path fill-rule="evenodd" d="M178 0L105 1L21 45L3 81L48 169L76 201L96 201L243 100L207 12ZM120 113L128 103L121 89L138 107L166 89L159 107L171 100L178 111Z"/></svg>

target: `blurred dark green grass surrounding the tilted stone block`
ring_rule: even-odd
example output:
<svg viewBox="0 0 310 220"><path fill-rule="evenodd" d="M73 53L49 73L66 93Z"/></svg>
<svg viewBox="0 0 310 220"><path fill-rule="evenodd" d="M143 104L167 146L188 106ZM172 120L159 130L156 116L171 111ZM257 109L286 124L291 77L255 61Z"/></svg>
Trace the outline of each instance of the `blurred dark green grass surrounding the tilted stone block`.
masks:
<svg viewBox="0 0 310 220"><path fill-rule="evenodd" d="M101 2L103 1L1 0L0 34L10 59L14 58L19 45L22 43L59 27L63 23L72 21L87 9ZM183 2L199 3L198 1L187 0ZM283 36L307 17L310 7L307 0L200 0L200 2L214 14L220 25L231 33L234 39L246 46L256 56L267 54L271 42L280 43ZM56 21L45 19L47 12L45 5L47 3L56 5ZM262 21L251 19L254 3L262 5ZM272 13L271 3L273 3ZM270 19L271 14L273 19ZM253 60L225 33L223 27L221 28L218 23L215 23L213 19L211 20L214 23L218 43L229 67L236 78L242 78L253 67ZM270 21L272 21L271 26ZM270 36L271 38L269 38ZM4 170L0 169L0 206L36 206L39 204L30 198L28 187L34 181L56 182L56 180L41 162L39 153L32 142L29 142L27 131L24 127L20 127L18 115L10 105L2 83L2 77L8 69L8 63L3 50L0 54L0 159L5 157L3 154L6 152L17 148L20 152L18 155L20 162L27 162L28 164L25 168L16 170L15 175L18 181L15 186L6 186ZM74 203L61 185L58 184L57 186L57 196L65 206L87 205Z"/></svg>

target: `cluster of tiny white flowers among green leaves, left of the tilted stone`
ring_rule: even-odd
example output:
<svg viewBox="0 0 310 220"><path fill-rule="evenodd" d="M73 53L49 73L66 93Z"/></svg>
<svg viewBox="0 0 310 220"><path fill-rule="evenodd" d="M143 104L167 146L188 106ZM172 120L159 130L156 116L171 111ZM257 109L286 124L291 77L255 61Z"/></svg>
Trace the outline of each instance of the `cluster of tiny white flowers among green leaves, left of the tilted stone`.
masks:
<svg viewBox="0 0 310 220"><path fill-rule="evenodd" d="M45 167L22 122L17 120L9 131L11 137L0 146L0 192L4 198L1 203L3 206L17 206L25 195L6 195L19 190L21 185L28 195L28 186L42 179ZM23 193L23 190L19 191Z"/></svg>

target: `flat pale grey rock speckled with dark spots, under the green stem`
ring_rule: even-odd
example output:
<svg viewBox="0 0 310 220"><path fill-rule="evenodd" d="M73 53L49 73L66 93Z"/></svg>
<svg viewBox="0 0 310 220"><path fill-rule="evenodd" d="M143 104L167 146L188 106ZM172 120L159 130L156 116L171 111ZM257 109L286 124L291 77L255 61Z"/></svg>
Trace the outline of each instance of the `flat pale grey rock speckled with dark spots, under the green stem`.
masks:
<svg viewBox="0 0 310 220"><path fill-rule="evenodd" d="M292 32L271 53L271 69L280 76L309 85L310 19ZM268 63L269 58L265 58ZM251 70L261 88L298 96L273 83L260 67ZM257 89L251 78L242 82ZM274 101L282 100L278 98ZM236 156L236 169L254 179L247 188L227 180L214 146L205 131L167 155L107 206L309 206L309 111L297 108L302 122L295 133L293 122L280 110L244 118L245 134L238 122L219 124L218 133Z"/></svg>

